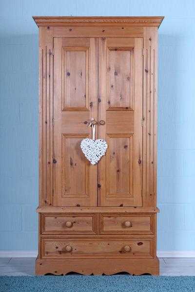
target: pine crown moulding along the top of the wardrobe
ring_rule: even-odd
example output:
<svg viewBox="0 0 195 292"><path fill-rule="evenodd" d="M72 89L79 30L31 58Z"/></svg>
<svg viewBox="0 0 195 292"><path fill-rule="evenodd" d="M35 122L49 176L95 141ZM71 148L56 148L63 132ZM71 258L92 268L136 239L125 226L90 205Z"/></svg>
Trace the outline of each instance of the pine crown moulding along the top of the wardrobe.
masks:
<svg viewBox="0 0 195 292"><path fill-rule="evenodd" d="M69 17L69 16L33 16L40 26L153 26L159 27L163 16L146 17Z"/></svg>

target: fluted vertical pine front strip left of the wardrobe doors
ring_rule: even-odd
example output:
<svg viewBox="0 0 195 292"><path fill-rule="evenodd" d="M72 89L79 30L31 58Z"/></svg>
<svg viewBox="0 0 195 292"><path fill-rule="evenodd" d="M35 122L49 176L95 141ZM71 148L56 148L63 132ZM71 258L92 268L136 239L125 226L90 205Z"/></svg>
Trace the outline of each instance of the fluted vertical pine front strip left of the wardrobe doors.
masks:
<svg viewBox="0 0 195 292"><path fill-rule="evenodd" d="M51 206L53 118L53 28L39 28L39 207Z"/></svg>

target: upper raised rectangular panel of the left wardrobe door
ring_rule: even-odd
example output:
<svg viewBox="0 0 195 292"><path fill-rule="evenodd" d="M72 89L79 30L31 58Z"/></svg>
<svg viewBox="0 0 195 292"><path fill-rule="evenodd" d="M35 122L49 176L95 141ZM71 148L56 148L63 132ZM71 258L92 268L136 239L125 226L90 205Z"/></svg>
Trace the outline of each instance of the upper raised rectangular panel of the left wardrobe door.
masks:
<svg viewBox="0 0 195 292"><path fill-rule="evenodd" d="M87 110L89 48L62 47L62 110Z"/></svg>

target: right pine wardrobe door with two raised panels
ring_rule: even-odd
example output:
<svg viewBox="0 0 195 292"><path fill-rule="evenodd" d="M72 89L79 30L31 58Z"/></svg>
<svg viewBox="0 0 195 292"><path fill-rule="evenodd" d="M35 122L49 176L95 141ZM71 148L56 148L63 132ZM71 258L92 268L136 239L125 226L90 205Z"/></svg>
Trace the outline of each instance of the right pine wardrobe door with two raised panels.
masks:
<svg viewBox="0 0 195 292"><path fill-rule="evenodd" d="M142 38L99 38L99 206L142 206L142 48Z"/></svg>

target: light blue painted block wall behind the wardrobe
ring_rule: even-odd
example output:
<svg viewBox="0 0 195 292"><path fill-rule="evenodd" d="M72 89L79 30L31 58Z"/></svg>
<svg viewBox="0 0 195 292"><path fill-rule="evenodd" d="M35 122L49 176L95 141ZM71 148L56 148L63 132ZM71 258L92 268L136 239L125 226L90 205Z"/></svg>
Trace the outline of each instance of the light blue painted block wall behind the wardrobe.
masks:
<svg viewBox="0 0 195 292"><path fill-rule="evenodd" d="M32 15L158 16L158 250L195 249L195 1L0 5L0 250L36 250L38 28Z"/></svg>

